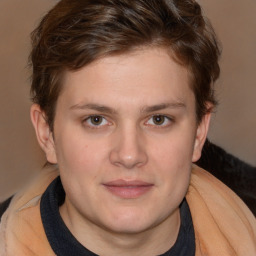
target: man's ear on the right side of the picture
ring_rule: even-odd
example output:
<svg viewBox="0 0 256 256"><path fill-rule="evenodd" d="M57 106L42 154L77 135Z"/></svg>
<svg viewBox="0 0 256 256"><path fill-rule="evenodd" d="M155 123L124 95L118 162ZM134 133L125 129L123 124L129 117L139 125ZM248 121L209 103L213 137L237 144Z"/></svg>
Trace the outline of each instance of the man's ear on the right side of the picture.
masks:
<svg viewBox="0 0 256 256"><path fill-rule="evenodd" d="M196 162L201 157L202 148L209 130L210 120L211 112L203 116L201 123L197 127L192 162Z"/></svg>

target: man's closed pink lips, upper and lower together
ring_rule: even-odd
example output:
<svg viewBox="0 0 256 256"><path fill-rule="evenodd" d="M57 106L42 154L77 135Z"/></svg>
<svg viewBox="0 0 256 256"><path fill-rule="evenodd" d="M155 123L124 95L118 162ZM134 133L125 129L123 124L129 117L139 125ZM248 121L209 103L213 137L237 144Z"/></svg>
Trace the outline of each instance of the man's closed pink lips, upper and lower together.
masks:
<svg viewBox="0 0 256 256"><path fill-rule="evenodd" d="M126 181L119 179L104 183L103 186L117 197L135 199L149 192L154 185L140 180Z"/></svg>

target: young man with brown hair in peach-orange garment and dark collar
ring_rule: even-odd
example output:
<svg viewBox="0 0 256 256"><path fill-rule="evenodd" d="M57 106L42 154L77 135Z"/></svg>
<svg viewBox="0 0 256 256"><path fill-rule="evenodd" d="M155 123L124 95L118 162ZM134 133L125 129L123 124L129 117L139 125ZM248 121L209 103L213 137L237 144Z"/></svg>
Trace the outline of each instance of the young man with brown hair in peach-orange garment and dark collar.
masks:
<svg viewBox="0 0 256 256"><path fill-rule="evenodd" d="M14 195L1 255L256 255L256 221L193 163L220 55L194 0L61 0L32 33L48 168Z"/></svg>

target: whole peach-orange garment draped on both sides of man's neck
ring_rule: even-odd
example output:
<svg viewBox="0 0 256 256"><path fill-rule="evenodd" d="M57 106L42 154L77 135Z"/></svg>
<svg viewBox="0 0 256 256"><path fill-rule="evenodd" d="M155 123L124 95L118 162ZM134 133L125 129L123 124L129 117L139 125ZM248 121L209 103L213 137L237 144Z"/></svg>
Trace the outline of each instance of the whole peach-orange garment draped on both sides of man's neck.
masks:
<svg viewBox="0 0 256 256"><path fill-rule="evenodd" d="M0 224L1 256L55 255L41 221L40 199L57 175L56 170L44 170L13 198ZM186 200L195 230L196 256L256 255L256 220L223 183L194 166Z"/></svg>

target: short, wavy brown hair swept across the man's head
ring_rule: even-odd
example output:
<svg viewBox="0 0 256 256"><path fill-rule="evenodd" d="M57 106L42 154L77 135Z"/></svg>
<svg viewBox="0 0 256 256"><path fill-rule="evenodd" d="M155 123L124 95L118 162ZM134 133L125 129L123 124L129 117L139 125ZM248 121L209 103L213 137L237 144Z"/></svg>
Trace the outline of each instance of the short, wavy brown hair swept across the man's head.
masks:
<svg viewBox="0 0 256 256"><path fill-rule="evenodd" d="M32 33L31 95L53 129L61 80L101 57L140 46L169 48L191 74L197 120L211 111L219 76L215 33L194 0L62 0Z"/></svg>

